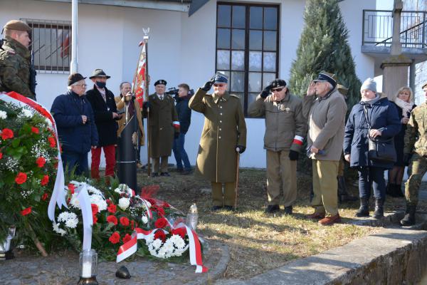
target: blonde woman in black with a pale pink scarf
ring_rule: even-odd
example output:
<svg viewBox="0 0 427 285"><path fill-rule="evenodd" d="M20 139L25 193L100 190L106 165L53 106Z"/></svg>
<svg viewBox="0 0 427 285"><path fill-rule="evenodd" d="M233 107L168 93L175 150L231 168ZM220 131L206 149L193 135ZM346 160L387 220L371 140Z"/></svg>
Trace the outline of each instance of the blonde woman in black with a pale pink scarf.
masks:
<svg viewBox="0 0 427 285"><path fill-rule="evenodd" d="M393 169L389 170L389 184L387 185L386 193L391 197L404 197L401 190L402 179L404 178L404 138L406 132L406 124L411 116L411 110L416 107L412 102L413 93L410 87L400 88L394 98L394 105L397 108L399 120L401 120L401 130L394 137L394 147L396 148L397 160L394 163Z"/></svg>

